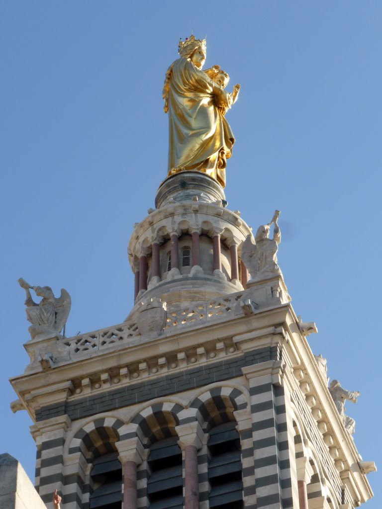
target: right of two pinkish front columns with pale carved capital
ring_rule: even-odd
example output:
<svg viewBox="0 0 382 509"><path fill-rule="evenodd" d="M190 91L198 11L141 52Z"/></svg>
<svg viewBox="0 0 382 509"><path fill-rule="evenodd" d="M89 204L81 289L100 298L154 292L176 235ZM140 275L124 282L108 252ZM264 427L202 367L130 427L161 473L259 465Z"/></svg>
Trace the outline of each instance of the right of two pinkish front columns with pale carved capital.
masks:
<svg viewBox="0 0 382 509"><path fill-rule="evenodd" d="M177 426L175 430L184 451L184 509L199 509L198 450L202 448L203 430L198 421Z"/></svg>

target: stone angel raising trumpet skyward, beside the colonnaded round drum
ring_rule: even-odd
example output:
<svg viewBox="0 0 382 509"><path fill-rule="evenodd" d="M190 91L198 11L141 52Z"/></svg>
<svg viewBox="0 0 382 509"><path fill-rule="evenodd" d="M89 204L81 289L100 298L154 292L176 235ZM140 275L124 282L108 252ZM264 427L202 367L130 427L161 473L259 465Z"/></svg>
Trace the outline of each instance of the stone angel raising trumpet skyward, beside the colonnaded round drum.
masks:
<svg viewBox="0 0 382 509"><path fill-rule="evenodd" d="M252 242L252 236L248 235L241 247L241 259L254 281L268 279L275 275L282 276L280 267L277 265L277 250L281 240L280 228L277 224L279 215L280 211L276 210L272 220L257 229L255 243ZM269 239L269 229L272 224L274 224L274 233L273 238Z"/></svg>

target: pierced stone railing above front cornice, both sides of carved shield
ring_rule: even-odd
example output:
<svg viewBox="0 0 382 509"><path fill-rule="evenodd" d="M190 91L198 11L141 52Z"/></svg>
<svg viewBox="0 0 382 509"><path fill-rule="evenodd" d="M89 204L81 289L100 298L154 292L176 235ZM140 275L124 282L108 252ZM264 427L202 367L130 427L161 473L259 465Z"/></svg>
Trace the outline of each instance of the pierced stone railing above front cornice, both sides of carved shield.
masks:
<svg viewBox="0 0 382 509"><path fill-rule="evenodd" d="M165 329L172 332L179 327L196 325L203 321L234 314L234 307L243 293L236 293L229 297L214 299L209 302L196 303L194 306L187 306L182 309L167 312L167 324ZM138 343L134 338L141 335L137 320L124 322L112 327L100 329L94 332L79 334L61 340L61 344L71 350L71 355L83 353L96 353L114 345L125 345Z"/></svg>

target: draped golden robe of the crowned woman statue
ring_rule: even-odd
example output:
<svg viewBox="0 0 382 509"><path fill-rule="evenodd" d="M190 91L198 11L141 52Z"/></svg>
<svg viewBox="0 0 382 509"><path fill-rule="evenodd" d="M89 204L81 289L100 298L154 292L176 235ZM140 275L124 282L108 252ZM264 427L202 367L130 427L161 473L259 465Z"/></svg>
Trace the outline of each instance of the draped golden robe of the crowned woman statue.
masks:
<svg viewBox="0 0 382 509"><path fill-rule="evenodd" d="M201 171L226 183L226 159L235 138L215 104L211 79L190 60L176 60L168 71L169 172Z"/></svg>

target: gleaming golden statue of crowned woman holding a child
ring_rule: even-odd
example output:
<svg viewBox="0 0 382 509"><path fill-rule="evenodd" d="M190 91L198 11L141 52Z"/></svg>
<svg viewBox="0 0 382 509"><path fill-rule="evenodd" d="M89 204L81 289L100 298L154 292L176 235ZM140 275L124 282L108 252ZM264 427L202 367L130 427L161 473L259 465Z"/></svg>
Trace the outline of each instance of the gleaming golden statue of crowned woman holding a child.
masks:
<svg viewBox="0 0 382 509"><path fill-rule="evenodd" d="M201 70L206 59L205 40L192 35L180 41L179 54L167 70L163 87L163 109L169 114L168 176L204 172L225 187L226 160L235 143L225 114L236 101L240 86L235 85L229 94L224 90L229 76L220 66Z"/></svg>

